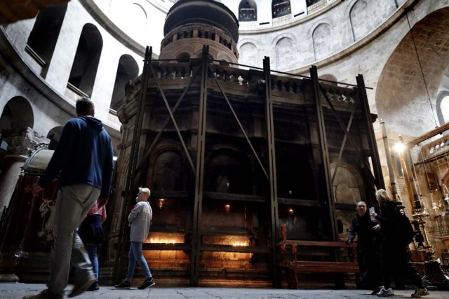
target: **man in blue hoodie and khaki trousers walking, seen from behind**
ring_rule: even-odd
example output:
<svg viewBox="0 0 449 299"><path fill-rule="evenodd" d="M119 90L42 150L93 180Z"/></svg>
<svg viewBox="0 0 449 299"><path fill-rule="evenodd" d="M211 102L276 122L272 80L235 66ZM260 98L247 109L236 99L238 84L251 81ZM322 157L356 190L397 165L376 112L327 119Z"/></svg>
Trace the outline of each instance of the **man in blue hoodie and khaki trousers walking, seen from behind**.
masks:
<svg viewBox="0 0 449 299"><path fill-rule="evenodd" d="M101 121L93 117L90 99L76 102L76 115L64 126L46 171L32 188L38 195L60 174L48 288L26 299L63 298L71 265L75 268L75 284L69 297L83 293L95 281L91 260L76 229L96 200L101 205L107 203L114 153L111 137Z"/></svg>

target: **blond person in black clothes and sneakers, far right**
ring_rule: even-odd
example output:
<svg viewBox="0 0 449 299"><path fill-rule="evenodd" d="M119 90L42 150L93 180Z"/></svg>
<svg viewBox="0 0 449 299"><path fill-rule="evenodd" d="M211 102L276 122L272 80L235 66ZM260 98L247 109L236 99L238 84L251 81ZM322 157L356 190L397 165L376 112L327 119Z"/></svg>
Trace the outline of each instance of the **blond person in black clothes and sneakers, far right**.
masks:
<svg viewBox="0 0 449 299"><path fill-rule="evenodd" d="M408 277L415 285L415 293L413 298L421 298L421 296L429 295L429 291L422 284L420 274L411 263L408 263L407 246L401 237L400 229L398 229L398 217L401 211L398 211L397 204L387 195L384 189L376 192L376 199L380 205L380 214L371 213L380 223L382 232L382 281L383 286L378 297L388 297L394 295L390 288L391 277L395 274L397 277ZM403 213L403 211L402 211Z"/></svg>

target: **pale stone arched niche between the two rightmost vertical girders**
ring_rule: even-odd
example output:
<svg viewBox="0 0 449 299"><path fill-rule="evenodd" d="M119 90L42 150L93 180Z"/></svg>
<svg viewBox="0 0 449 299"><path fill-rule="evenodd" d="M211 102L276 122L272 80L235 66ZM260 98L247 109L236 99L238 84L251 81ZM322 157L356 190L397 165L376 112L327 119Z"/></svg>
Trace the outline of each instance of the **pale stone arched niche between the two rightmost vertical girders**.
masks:
<svg viewBox="0 0 449 299"><path fill-rule="evenodd" d="M334 162L330 164L330 174L334 176L333 192L335 202L339 204L355 204L365 201L365 191L362 176L357 170L346 162Z"/></svg>

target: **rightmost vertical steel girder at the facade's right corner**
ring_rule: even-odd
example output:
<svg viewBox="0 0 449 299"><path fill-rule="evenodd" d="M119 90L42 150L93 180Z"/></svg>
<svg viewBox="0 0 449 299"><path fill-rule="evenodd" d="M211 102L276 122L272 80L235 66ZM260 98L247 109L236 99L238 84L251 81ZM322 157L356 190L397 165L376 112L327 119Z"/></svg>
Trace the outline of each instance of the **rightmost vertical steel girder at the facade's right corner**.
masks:
<svg viewBox="0 0 449 299"><path fill-rule="evenodd" d="M368 146L370 147L371 152L371 162L373 163L375 184L377 189L380 188L384 189L385 188L384 176L382 175L382 167L380 166L379 151L377 149L377 143L373 129L373 122L371 120L370 104L368 103L368 96L366 95L366 87L365 81L363 81L363 75L359 74L356 77L356 80L358 89L360 90L361 105L366 120L366 128L367 128L366 134L368 134Z"/></svg>

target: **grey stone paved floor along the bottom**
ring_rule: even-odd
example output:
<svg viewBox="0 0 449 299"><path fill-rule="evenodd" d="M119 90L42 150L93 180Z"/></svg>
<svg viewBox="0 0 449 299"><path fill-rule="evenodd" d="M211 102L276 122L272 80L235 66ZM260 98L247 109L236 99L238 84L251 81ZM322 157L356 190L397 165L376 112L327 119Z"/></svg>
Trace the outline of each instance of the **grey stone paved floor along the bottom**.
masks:
<svg viewBox="0 0 449 299"><path fill-rule="evenodd" d="M45 289L45 284L0 283L1 299L23 298ZM71 286L67 289L69 290ZM410 298L412 290L394 290L394 298ZM101 286L100 291L86 292L77 298L157 298L157 299L333 299L333 298L377 298L364 290L288 290L276 288L179 288L152 287L138 290L118 290L113 286ZM431 291L425 298L449 298L449 291Z"/></svg>

